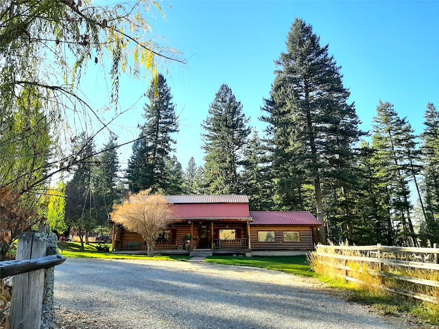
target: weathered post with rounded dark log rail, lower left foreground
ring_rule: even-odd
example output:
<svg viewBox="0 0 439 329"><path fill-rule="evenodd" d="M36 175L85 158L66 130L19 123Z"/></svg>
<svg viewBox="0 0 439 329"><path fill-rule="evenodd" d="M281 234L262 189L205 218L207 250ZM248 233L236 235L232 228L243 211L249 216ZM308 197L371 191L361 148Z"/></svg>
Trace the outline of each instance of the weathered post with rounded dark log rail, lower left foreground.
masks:
<svg viewBox="0 0 439 329"><path fill-rule="evenodd" d="M0 263L0 278L14 276L9 329L40 328L45 269L66 260L63 256L53 254L54 247L48 245L45 235L36 232L20 234L16 260Z"/></svg>

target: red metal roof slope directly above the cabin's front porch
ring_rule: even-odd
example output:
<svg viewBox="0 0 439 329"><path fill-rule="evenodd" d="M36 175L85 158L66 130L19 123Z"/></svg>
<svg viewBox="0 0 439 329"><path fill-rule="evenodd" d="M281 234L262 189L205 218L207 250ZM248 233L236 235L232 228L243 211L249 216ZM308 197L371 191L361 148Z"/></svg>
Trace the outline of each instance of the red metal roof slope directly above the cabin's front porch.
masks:
<svg viewBox="0 0 439 329"><path fill-rule="evenodd" d="M174 204L176 219L250 219L248 204Z"/></svg>

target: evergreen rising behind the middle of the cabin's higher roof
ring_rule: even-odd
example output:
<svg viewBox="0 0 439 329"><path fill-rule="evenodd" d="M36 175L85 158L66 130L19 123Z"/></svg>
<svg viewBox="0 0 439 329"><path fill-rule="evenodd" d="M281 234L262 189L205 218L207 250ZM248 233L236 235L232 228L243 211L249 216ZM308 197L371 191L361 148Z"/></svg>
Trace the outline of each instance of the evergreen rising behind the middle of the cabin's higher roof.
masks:
<svg viewBox="0 0 439 329"><path fill-rule="evenodd" d="M244 164L244 151L250 127L240 101L223 84L209 106L209 115L202 123L206 154L204 180L209 193L239 194L239 169Z"/></svg>

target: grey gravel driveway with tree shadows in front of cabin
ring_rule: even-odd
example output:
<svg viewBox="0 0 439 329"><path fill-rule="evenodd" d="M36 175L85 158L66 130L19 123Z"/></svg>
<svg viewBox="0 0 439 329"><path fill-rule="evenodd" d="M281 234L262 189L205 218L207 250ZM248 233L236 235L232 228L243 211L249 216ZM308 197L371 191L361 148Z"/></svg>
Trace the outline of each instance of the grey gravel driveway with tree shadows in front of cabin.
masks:
<svg viewBox="0 0 439 329"><path fill-rule="evenodd" d="M69 258L55 282L60 329L416 328L316 280L252 267Z"/></svg>

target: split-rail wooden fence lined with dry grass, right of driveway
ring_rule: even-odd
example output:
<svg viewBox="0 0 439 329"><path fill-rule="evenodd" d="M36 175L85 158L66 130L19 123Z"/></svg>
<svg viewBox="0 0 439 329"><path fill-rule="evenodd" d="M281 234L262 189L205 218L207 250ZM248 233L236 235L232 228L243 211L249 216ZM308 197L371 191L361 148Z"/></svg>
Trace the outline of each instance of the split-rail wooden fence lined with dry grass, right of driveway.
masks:
<svg viewBox="0 0 439 329"><path fill-rule="evenodd" d="M313 260L335 276L364 282L364 272L377 279L375 287L439 304L439 248L384 245L317 245ZM372 283L373 284L373 283Z"/></svg>

